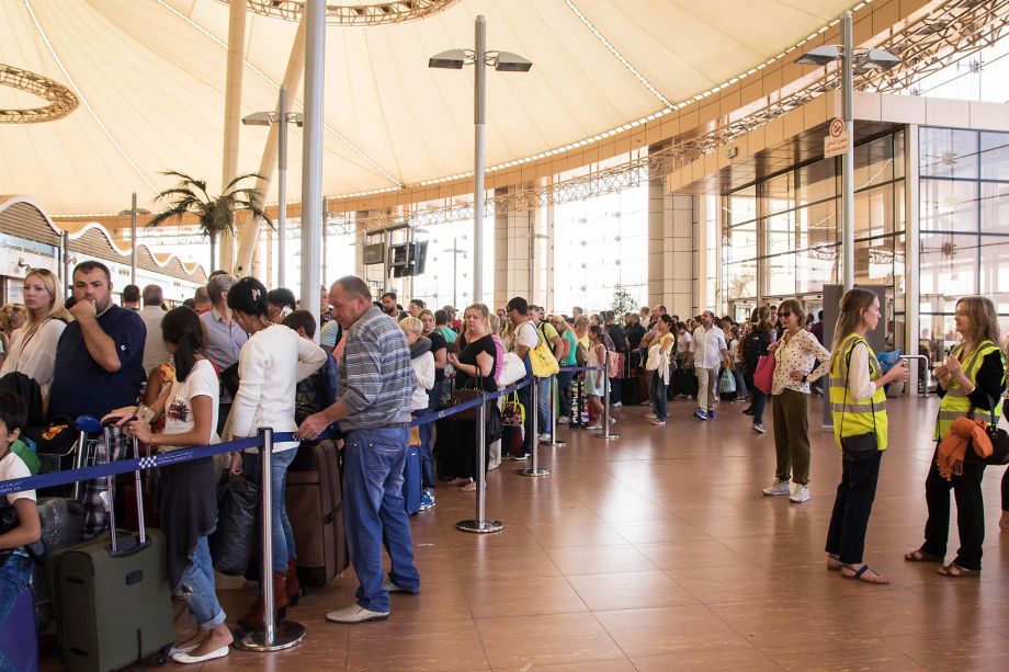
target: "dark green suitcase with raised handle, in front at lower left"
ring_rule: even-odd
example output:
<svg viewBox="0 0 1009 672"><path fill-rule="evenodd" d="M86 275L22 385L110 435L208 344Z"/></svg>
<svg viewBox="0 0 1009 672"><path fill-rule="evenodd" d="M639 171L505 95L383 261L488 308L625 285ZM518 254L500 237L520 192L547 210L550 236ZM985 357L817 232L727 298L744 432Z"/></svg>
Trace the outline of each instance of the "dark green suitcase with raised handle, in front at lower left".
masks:
<svg viewBox="0 0 1009 672"><path fill-rule="evenodd" d="M107 443L107 429L105 436ZM136 440L133 449L137 455ZM145 528L143 508L143 488L137 488L138 534L116 533L112 513L111 531L49 559L60 649L69 670L118 670L155 653L163 661L175 640L168 546L160 531Z"/></svg>

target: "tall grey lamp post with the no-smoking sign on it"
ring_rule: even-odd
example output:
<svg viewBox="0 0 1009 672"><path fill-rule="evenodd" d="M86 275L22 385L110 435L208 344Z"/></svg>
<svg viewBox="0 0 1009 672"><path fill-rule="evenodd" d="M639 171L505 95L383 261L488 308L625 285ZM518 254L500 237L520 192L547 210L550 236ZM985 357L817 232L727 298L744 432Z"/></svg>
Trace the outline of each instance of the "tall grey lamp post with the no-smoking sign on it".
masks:
<svg viewBox="0 0 1009 672"><path fill-rule="evenodd" d="M826 44L795 59L806 66L826 67L841 61L841 118L848 134L848 150L841 155L841 253L844 292L854 286L854 71L888 70L900 59L884 49L855 49L852 44L851 11L841 16L841 44Z"/></svg>

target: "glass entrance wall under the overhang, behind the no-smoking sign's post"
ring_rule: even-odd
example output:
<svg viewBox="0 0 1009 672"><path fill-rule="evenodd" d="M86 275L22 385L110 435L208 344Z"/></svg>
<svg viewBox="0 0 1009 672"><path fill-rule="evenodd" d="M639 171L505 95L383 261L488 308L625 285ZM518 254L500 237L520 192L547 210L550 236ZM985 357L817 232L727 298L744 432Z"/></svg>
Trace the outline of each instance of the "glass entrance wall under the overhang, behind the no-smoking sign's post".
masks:
<svg viewBox="0 0 1009 672"><path fill-rule="evenodd" d="M887 287L888 334L903 344L904 132L854 150L855 282ZM840 158L800 166L723 198L723 310L800 297L821 307L840 282Z"/></svg>

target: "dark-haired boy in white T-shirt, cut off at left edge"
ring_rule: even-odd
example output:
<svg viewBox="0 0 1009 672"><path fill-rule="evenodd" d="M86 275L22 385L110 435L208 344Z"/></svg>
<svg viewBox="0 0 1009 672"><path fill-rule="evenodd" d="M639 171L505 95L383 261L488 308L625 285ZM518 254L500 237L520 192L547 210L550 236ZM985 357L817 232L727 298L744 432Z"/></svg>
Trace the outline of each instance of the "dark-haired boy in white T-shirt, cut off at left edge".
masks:
<svg viewBox="0 0 1009 672"><path fill-rule="evenodd" d="M12 392L0 392L0 481L31 476L24 460L11 449L27 421L24 400ZM7 622L21 592L27 586L34 560L24 549L42 536L35 491L13 492L0 502L0 627ZM10 661L0 653L0 670L12 670Z"/></svg>

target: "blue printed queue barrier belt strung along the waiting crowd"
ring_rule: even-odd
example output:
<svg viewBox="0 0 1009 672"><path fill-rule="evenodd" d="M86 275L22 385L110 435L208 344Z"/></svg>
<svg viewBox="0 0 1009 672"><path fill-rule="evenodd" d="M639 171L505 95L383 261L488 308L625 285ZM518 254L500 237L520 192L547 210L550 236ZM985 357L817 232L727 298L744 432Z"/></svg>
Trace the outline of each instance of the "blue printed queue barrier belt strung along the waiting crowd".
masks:
<svg viewBox="0 0 1009 672"><path fill-rule="evenodd" d="M444 418L454 415L460 411L476 408L485 399L497 399L498 397L510 395L511 392L525 387L529 385L529 378L523 378L520 383L512 385L511 387L499 389L496 392L486 394L483 399L472 399L465 403L460 403L458 406L453 406L452 408L446 408L444 410L438 411L437 413L423 415L422 418L418 418L417 420L412 421L410 424L412 426L417 426L427 424L429 422L435 422L437 420L443 420ZM316 441L320 438L331 438L332 436L332 432L326 431L317 436ZM286 443L291 441L298 441L298 437L295 436L294 432L276 432L273 434L273 441L274 443ZM262 445L262 436L250 436L249 438L237 438L235 441L217 443L211 446L180 448L178 451L158 453L157 455L150 455L148 457L121 459L104 465L81 467L80 469L68 469L66 471L55 471L53 474L39 474L38 476L30 476L27 478L15 478L0 481L0 497L4 494L11 494L12 492L41 490L42 488L65 486L67 483L72 483L81 480L91 480L94 478L117 476L120 474L129 474L137 470L154 469L156 467L165 467L168 465L178 465L186 462L192 462L194 459L203 459L204 457L213 457L214 455L220 455L222 453L233 453L236 451L246 451L248 448L258 448Z"/></svg>

